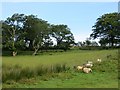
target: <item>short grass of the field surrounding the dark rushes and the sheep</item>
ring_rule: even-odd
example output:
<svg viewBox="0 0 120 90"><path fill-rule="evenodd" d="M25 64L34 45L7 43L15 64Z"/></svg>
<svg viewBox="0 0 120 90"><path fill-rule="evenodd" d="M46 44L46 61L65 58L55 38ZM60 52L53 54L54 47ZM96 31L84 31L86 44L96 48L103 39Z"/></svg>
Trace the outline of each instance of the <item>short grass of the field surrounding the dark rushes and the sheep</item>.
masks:
<svg viewBox="0 0 120 90"><path fill-rule="evenodd" d="M107 58L109 55L111 58ZM49 67L65 64L70 67L70 70L23 78L19 81L8 80L3 83L3 88L118 88L117 56L118 50L73 50L49 52L38 56L4 56L2 64L7 67L19 65L22 68L35 69L41 65ZM94 65L93 72L90 74L77 72L73 69L74 65L82 65L87 60L96 63L98 58L101 58L103 63L102 65Z"/></svg>

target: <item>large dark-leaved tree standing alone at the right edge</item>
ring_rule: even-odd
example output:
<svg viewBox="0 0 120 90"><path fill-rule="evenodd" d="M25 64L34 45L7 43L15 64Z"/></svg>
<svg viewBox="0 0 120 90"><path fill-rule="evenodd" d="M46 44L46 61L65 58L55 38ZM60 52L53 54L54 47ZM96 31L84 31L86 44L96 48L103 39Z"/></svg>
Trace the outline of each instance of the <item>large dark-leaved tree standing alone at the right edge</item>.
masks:
<svg viewBox="0 0 120 90"><path fill-rule="evenodd" d="M100 38L100 43L114 46L120 45L120 13L104 14L97 19L93 26L93 33L90 35L93 39ZM106 42L106 43L105 43Z"/></svg>

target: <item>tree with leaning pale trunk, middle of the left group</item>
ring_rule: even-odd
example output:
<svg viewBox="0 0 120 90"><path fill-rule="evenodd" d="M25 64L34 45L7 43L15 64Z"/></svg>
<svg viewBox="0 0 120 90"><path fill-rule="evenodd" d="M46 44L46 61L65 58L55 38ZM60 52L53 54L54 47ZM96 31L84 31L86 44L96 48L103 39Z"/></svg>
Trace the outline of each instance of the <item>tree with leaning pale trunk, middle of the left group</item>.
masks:
<svg viewBox="0 0 120 90"><path fill-rule="evenodd" d="M39 22L34 26L34 30L35 30L35 38L33 38L33 48L35 51L33 55L36 55L40 47L42 47L46 43L50 44L47 21L40 19ZM45 40L47 40L46 43Z"/></svg>

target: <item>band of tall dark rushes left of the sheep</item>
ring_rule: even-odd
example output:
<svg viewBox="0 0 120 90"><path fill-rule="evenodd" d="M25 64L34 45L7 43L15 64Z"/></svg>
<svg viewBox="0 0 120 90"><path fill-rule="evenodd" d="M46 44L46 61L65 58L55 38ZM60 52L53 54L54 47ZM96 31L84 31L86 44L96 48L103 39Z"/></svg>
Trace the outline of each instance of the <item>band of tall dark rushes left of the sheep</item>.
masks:
<svg viewBox="0 0 120 90"><path fill-rule="evenodd" d="M70 69L70 67L66 66L66 64L56 64L51 67L45 67L43 65L40 65L34 69L31 69L30 67L22 68L19 65L14 66L6 66L3 65L2 67L2 82L5 83L8 80L14 80L19 81L23 78L31 78L35 76L43 76L45 74L50 73L59 73L59 72L65 72Z"/></svg>

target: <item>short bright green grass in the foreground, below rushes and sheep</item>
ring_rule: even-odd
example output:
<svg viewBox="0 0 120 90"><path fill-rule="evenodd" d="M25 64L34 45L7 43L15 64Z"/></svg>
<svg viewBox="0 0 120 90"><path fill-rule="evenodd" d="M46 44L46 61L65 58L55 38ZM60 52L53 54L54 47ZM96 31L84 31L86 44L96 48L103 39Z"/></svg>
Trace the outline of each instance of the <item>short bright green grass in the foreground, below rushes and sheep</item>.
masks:
<svg viewBox="0 0 120 90"><path fill-rule="evenodd" d="M47 78L46 78L47 77ZM36 77L29 80L21 80L19 83L3 84L7 88L118 88L118 79L114 73L74 73L65 75L60 73L58 77Z"/></svg>

